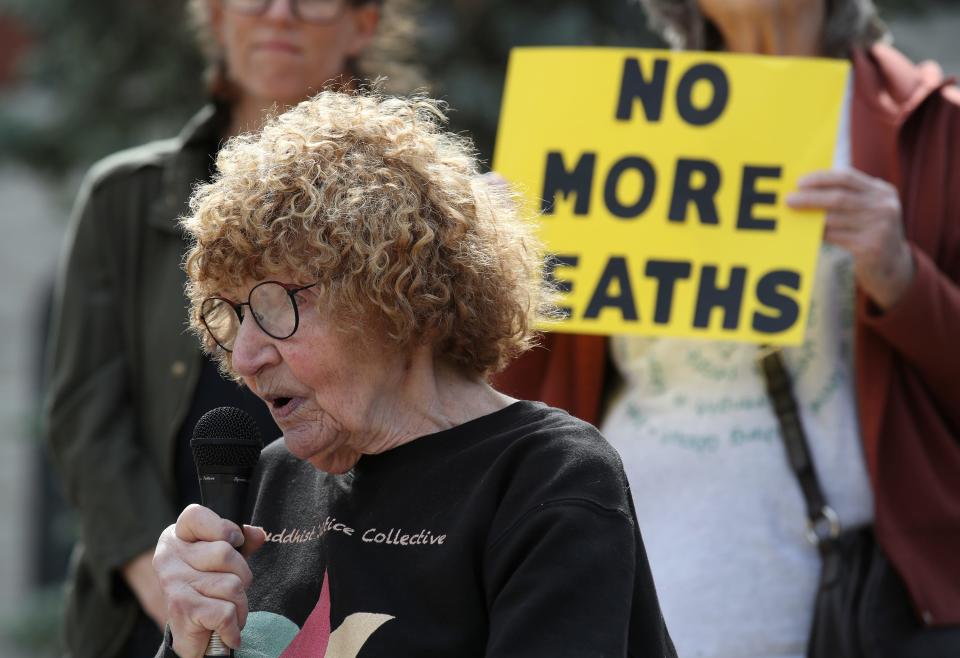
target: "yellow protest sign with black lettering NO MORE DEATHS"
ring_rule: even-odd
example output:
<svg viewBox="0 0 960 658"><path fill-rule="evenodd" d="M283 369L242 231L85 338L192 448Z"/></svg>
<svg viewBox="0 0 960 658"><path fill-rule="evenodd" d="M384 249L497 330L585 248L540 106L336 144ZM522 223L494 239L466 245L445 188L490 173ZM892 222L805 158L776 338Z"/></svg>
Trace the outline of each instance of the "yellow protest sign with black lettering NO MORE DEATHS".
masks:
<svg viewBox="0 0 960 658"><path fill-rule="evenodd" d="M552 331L799 344L846 62L614 48L510 57L494 169L540 212Z"/></svg>

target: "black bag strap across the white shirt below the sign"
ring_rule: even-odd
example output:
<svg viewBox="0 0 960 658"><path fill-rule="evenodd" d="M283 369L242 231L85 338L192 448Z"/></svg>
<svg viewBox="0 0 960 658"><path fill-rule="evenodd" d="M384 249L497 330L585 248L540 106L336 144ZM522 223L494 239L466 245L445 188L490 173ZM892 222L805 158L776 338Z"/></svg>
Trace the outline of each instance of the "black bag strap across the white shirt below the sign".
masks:
<svg viewBox="0 0 960 658"><path fill-rule="evenodd" d="M760 352L760 369L767 384L767 396L780 423L780 436L787 452L787 461L807 504L807 539L820 546L827 539L840 535L840 519L827 504L810 454L810 444L800 420L800 410L793 395L793 382L783 361L783 350L764 346Z"/></svg>

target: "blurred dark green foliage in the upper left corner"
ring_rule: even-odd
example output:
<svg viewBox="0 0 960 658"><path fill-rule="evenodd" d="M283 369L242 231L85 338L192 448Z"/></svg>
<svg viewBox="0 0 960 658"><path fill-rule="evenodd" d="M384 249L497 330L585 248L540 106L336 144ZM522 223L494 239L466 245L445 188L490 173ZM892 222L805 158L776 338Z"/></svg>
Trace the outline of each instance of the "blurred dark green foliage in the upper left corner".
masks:
<svg viewBox="0 0 960 658"><path fill-rule="evenodd" d="M168 136L201 102L181 1L7 1L34 42L22 62L32 95L3 105L0 151L60 172Z"/></svg>

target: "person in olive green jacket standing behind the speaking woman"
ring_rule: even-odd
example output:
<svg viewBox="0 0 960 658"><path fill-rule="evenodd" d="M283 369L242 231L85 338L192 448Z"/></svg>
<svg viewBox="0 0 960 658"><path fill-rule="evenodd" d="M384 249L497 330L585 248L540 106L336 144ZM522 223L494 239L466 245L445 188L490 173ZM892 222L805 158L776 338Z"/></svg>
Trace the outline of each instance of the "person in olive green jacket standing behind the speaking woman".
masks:
<svg viewBox="0 0 960 658"><path fill-rule="evenodd" d="M71 655L145 656L166 621L156 537L199 501L189 439L218 406L279 430L185 332L178 217L220 143L267 113L372 74L377 0L194 0L211 102L174 139L124 151L87 176L57 283L48 436L79 512L66 612Z"/></svg>

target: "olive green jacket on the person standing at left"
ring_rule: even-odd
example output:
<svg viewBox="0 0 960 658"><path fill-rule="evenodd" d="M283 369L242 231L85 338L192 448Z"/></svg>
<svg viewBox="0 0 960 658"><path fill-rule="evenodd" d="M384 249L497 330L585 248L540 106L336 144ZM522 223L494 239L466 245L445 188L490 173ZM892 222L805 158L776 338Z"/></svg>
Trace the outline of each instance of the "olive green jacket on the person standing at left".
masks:
<svg viewBox="0 0 960 658"><path fill-rule="evenodd" d="M224 113L204 108L180 136L112 155L80 191L57 279L47 433L79 513L66 642L109 658L137 603L120 568L176 520L175 442L201 368L187 331L187 242L177 224L209 176Z"/></svg>

